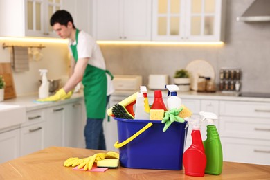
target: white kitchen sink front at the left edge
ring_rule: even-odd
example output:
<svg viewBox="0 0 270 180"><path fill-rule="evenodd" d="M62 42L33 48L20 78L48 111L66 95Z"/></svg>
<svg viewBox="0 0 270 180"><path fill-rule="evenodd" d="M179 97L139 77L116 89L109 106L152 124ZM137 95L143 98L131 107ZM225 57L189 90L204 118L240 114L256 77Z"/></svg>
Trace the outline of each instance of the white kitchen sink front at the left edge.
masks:
<svg viewBox="0 0 270 180"><path fill-rule="evenodd" d="M0 129L19 125L26 121L26 107L0 104Z"/></svg>

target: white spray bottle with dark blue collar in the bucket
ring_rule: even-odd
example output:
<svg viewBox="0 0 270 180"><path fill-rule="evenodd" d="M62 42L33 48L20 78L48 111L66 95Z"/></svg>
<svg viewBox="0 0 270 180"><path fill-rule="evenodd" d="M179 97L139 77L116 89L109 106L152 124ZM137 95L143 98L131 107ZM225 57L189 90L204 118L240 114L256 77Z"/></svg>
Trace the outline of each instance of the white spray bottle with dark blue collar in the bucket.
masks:
<svg viewBox="0 0 270 180"><path fill-rule="evenodd" d="M177 96L177 91L179 91L179 87L175 84L165 85L165 88L168 89L168 96L170 96L167 100L167 107L169 110L177 108L179 109L182 104L181 98Z"/></svg>

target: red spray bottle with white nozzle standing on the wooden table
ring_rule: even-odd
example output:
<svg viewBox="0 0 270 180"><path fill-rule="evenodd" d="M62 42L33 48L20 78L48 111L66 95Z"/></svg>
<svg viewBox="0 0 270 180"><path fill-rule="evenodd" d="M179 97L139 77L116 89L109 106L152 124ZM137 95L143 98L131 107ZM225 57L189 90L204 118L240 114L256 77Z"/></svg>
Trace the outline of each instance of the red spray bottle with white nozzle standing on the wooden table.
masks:
<svg viewBox="0 0 270 180"><path fill-rule="evenodd" d="M186 119L185 119L186 120ZM206 168L206 154L201 140L199 119L192 120L192 144L183 153L183 167L185 174L192 177L204 177Z"/></svg>

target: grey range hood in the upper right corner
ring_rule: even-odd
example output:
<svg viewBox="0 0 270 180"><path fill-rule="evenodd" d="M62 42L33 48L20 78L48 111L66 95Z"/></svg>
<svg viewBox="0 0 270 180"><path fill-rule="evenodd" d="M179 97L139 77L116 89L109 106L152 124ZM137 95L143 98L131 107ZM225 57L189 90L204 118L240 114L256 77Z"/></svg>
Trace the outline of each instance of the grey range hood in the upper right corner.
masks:
<svg viewBox="0 0 270 180"><path fill-rule="evenodd" d="M237 21L260 22L270 21L270 0L255 0Z"/></svg>

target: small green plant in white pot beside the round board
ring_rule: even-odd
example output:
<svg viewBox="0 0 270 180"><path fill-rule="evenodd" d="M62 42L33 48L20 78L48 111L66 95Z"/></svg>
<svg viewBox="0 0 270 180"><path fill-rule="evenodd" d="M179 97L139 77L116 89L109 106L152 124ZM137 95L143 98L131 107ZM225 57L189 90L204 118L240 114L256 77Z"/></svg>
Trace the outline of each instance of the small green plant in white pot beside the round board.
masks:
<svg viewBox="0 0 270 180"><path fill-rule="evenodd" d="M190 90L190 75L186 69L180 69L174 73L174 84L177 84L180 91Z"/></svg>

